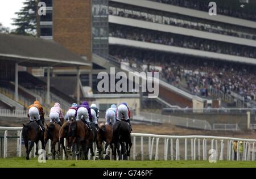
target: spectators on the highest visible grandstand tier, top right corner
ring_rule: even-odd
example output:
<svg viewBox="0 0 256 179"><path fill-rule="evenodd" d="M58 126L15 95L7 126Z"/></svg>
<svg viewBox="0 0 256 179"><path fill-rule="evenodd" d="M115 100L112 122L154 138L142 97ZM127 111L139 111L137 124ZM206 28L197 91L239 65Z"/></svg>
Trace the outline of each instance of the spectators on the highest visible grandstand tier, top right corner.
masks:
<svg viewBox="0 0 256 179"><path fill-rule="evenodd" d="M209 1L198 1L198 0L150 0L160 3L167 3L169 5L181 6L187 8L193 8L195 10L208 11L209 10ZM256 14L244 12L241 9L234 9L229 7L218 6L217 13L227 16L233 16L235 18L247 19L256 21Z"/></svg>

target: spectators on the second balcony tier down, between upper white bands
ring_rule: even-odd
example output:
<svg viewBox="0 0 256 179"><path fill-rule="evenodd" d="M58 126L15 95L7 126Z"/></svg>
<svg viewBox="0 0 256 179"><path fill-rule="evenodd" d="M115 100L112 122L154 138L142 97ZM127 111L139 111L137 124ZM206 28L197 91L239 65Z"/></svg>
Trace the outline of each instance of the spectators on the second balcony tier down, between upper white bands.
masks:
<svg viewBox="0 0 256 179"><path fill-rule="evenodd" d="M214 23L214 22L204 22L204 20L197 20L195 18L187 18L184 20L181 18L181 15L170 15L170 16L163 16L155 14L149 14L148 12L136 11L136 10L129 10L125 8L116 8L116 7L109 7L109 14L110 15L117 15L126 18L144 20L147 22L154 22L160 24L167 24L167 25L175 25L177 27L184 27L189 29L196 29L199 31L206 31L211 33L219 33L221 35L228 35L234 37L241 37L243 39L251 39L256 40L255 31L252 29L235 27L234 25L222 24L222 23ZM167 13L166 13L167 14ZM246 32L247 31L247 32Z"/></svg>

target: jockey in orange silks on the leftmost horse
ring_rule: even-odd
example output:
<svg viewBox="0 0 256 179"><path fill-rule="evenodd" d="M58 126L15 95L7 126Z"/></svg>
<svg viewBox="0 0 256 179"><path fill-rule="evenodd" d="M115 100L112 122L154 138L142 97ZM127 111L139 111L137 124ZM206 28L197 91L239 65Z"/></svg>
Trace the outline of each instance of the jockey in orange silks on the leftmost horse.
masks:
<svg viewBox="0 0 256 179"><path fill-rule="evenodd" d="M35 101L34 104L30 105L28 107L28 114L27 117L30 118L30 122L34 122L36 119L36 122L44 129L43 122L41 120L42 117L44 117L44 109L39 101Z"/></svg>

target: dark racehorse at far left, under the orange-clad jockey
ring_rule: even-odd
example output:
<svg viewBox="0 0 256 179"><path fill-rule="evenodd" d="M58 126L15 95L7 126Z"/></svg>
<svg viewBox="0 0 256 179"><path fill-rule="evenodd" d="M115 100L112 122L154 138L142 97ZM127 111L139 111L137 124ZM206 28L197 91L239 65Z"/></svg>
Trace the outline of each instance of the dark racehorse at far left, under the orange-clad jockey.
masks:
<svg viewBox="0 0 256 179"><path fill-rule="evenodd" d="M42 117L42 122L44 122L44 118ZM36 122L30 122L26 125L23 123L22 128L22 137L24 140L24 144L26 147L26 159L30 159L30 152L32 150L32 147L34 147L34 144L36 144L36 155L38 155L38 142L41 141L42 143L42 149L46 150L46 146L44 145L44 134L43 130L40 128L39 124ZM31 141L30 147L28 148L28 141Z"/></svg>

